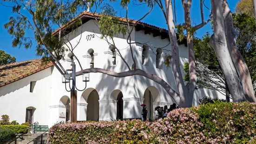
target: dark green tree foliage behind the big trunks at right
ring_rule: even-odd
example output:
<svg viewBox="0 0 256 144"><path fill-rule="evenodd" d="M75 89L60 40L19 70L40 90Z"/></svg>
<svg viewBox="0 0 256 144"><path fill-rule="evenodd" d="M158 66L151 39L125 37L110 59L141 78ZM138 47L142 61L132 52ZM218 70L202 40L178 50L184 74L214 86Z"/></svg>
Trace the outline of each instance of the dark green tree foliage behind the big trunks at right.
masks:
<svg viewBox="0 0 256 144"><path fill-rule="evenodd" d="M252 83L256 84L256 27L253 17L246 13L232 14L235 27L236 44L248 65ZM209 65L219 65L214 50L209 45L210 33L201 39L194 38L197 88L209 88L225 94L224 75L221 69L209 70ZM190 81L188 63L184 66L184 80Z"/></svg>

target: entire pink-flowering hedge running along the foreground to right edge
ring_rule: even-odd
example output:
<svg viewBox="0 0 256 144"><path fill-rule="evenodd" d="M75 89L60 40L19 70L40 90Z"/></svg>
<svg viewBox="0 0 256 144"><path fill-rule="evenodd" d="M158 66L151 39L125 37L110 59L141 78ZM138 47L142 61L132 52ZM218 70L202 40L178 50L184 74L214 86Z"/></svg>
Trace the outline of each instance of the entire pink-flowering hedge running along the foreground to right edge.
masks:
<svg viewBox="0 0 256 144"><path fill-rule="evenodd" d="M164 119L54 125L51 144L256 144L256 103L214 102Z"/></svg>

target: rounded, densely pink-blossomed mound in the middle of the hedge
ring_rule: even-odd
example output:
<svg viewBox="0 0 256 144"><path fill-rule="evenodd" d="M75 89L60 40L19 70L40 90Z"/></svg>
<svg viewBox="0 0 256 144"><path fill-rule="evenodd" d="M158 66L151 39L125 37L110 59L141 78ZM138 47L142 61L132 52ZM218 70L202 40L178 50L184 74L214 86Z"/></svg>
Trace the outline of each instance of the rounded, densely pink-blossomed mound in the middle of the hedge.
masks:
<svg viewBox="0 0 256 144"><path fill-rule="evenodd" d="M159 134L160 144L202 144L206 140L198 114L189 108L171 111L154 122L151 129Z"/></svg>

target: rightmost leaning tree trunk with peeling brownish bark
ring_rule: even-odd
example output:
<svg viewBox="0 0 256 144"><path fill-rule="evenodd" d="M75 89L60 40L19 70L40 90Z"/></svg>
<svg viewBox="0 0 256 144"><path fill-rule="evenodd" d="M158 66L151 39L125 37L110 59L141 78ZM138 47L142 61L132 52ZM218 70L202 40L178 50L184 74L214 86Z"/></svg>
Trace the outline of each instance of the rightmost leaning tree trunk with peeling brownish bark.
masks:
<svg viewBox="0 0 256 144"><path fill-rule="evenodd" d="M241 80L243 94L248 101L256 102L248 66L236 47L234 22L227 0L222 0L222 8L228 48L231 59L235 65L236 72Z"/></svg>

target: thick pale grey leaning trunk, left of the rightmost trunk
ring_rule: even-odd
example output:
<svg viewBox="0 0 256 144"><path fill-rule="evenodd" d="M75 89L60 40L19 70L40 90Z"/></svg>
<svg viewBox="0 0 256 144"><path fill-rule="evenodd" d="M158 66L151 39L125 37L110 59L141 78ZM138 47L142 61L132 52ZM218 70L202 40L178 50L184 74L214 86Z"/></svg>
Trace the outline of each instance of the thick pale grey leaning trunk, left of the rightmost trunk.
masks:
<svg viewBox="0 0 256 144"><path fill-rule="evenodd" d="M213 16L214 34L210 38L210 45L213 47L221 68L227 80L233 102L245 101L242 87L240 85L236 69L228 50L222 13L222 0L211 0L211 11Z"/></svg>

